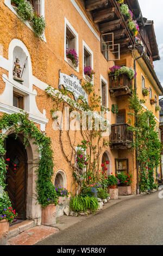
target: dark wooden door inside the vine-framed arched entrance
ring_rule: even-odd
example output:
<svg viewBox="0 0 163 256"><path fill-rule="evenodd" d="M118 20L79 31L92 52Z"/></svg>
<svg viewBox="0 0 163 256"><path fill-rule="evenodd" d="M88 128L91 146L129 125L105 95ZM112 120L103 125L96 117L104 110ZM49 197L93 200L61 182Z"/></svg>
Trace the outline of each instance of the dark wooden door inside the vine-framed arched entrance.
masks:
<svg viewBox="0 0 163 256"><path fill-rule="evenodd" d="M17 218L26 220L27 199L27 154L24 145L9 137L6 141L7 148L7 187L12 208L18 213Z"/></svg>

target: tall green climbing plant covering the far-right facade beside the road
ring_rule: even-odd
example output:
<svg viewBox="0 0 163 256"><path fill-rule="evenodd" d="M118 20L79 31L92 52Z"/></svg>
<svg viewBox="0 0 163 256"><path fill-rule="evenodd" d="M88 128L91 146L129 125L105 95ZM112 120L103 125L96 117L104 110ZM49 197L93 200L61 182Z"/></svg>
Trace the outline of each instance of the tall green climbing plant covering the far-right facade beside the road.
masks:
<svg viewBox="0 0 163 256"><path fill-rule="evenodd" d="M135 125L128 129L134 133L132 148L137 150L137 160L139 161L140 190L150 190L155 188L154 169L160 164L161 142L158 132L155 131L156 122L151 111L144 110L139 97L133 92L129 99L129 108L134 110ZM133 113L129 113L134 115Z"/></svg>

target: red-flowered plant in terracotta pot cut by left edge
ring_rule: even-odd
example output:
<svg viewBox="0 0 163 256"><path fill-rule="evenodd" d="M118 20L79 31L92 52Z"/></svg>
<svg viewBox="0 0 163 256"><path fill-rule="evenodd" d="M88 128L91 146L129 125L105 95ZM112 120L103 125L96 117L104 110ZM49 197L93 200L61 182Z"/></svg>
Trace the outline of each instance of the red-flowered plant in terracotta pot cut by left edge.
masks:
<svg viewBox="0 0 163 256"><path fill-rule="evenodd" d="M0 245L7 245L9 223L11 223L17 213L11 207L11 202L7 192L3 192L3 197L0 198Z"/></svg>

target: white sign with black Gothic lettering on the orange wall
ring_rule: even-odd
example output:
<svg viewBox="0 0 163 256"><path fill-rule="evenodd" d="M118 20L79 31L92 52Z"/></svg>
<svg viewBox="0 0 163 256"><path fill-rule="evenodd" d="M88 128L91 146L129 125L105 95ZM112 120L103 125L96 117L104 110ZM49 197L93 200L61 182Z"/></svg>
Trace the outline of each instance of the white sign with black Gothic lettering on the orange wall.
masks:
<svg viewBox="0 0 163 256"><path fill-rule="evenodd" d="M82 80L79 80L77 76L68 76L61 73L59 70L59 89L61 89L61 86L64 86L66 90L73 93L75 100L78 100L79 96L83 96L83 99L85 99L88 103L88 95L83 89L81 83Z"/></svg>

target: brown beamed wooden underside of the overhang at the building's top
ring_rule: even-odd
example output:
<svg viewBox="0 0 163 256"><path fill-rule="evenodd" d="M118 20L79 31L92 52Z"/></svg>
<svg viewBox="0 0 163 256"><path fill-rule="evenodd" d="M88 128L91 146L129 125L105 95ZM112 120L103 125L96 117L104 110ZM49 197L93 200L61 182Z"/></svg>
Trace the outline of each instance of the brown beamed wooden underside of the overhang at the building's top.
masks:
<svg viewBox="0 0 163 256"><path fill-rule="evenodd" d="M94 22L99 33L114 33L114 44L120 44L121 50L135 39L128 28L116 0L80 0L87 15Z"/></svg>

